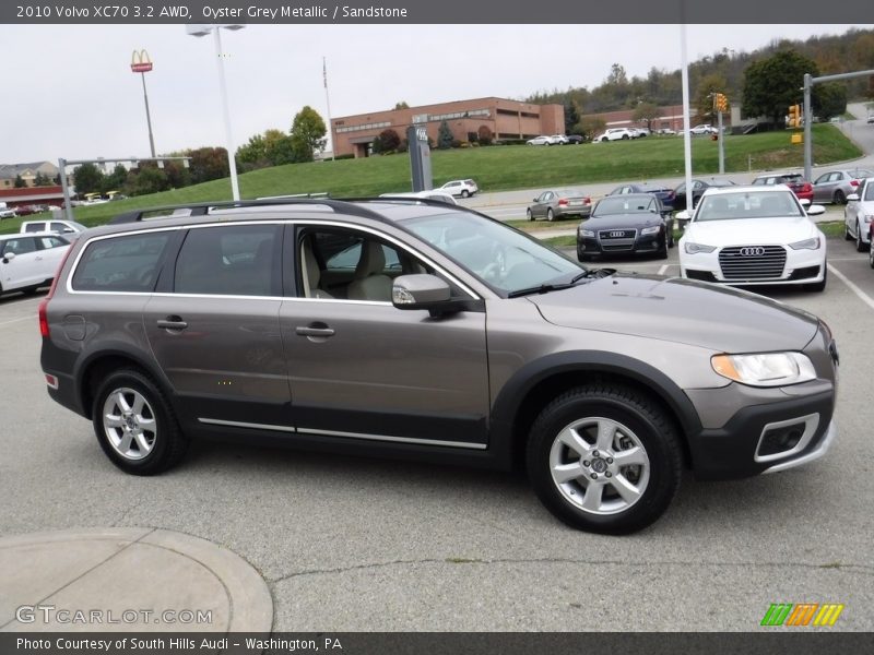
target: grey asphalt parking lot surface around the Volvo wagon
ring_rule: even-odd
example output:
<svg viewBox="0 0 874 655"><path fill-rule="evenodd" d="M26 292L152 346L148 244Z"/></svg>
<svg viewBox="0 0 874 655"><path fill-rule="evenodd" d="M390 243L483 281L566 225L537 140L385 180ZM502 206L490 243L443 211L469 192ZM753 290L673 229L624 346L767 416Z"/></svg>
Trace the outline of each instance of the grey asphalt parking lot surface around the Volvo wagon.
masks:
<svg viewBox="0 0 874 655"><path fill-rule="evenodd" d="M595 265L677 273L668 260ZM267 580L281 631L756 630L771 603L840 603L874 629L874 271L829 240L822 294L758 289L831 326L841 356L829 454L732 481L684 480L642 533L565 527L517 475L197 443L140 478L49 400L39 297L0 300L0 534L151 526L211 539ZM773 630L773 629L771 629Z"/></svg>

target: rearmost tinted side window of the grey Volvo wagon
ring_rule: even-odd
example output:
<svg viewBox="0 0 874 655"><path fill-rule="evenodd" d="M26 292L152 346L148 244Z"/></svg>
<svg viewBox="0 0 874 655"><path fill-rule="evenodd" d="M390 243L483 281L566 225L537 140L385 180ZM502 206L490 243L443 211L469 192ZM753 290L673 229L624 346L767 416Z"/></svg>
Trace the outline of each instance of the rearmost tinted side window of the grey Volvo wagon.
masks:
<svg viewBox="0 0 874 655"><path fill-rule="evenodd" d="M73 290L151 291L170 236L164 231L92 241L73 272Z"/></svg>

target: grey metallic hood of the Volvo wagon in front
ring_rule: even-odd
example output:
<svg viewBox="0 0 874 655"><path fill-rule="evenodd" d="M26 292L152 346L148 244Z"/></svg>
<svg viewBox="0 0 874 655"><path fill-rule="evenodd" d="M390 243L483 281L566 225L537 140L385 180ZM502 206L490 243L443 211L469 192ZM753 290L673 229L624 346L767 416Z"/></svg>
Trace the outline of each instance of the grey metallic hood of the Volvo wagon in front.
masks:
<svg viewBox="0 0 874 655"><path fill-rule="evenodd" d="M617 273L528 296L550 323L689 344L724 353L801 350L819 320L731 287Z"/></svg>

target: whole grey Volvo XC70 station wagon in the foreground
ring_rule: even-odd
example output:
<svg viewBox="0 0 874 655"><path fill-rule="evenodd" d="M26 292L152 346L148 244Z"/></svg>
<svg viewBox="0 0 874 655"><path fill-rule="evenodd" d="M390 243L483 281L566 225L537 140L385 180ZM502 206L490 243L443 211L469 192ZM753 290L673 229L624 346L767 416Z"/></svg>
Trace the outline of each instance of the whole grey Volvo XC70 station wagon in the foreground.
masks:
<svg viewBox="0 0 874 655"><path fill-rule="evenodd" d="M777 472L835 438L829 329L767 298L587 269L428 201L167 213L86 233L39 307L49 394L128 473L194 437L523 465L562 521L618 534L684 467Z"/></svg>

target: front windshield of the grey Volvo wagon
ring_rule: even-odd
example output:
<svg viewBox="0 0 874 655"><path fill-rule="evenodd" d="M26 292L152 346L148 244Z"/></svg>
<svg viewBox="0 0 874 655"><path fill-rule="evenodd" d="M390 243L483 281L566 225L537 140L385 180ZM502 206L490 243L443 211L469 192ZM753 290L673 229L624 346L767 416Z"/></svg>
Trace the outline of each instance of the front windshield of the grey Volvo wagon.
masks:
<svg viewBox="0 0 874 655"><path fill-rule="evenodd" d="M422 216L406 219L403 225L491 287L507 294L569 283L586 272L536 239L475 214Z"/></svg>

